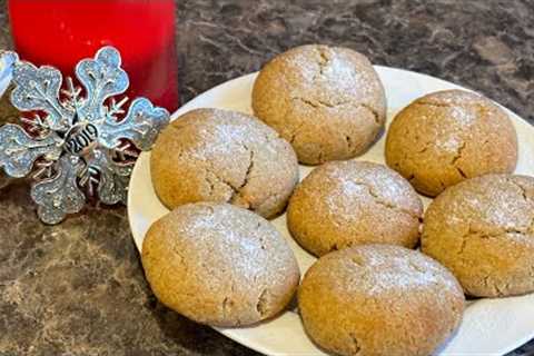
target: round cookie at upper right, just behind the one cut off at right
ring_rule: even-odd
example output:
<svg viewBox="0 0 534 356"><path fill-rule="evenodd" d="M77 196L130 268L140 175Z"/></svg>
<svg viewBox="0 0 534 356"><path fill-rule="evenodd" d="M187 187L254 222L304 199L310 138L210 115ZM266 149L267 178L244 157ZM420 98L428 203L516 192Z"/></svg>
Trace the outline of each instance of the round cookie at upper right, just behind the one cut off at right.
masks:
<svg viewBox="0 0 534 356"><path fill-rule="evenodd" d="M506 112L491 100L464 90L437 91L395 117L386 161L417 191L434 197L466 178L512 172L517 137Z"/></svg>

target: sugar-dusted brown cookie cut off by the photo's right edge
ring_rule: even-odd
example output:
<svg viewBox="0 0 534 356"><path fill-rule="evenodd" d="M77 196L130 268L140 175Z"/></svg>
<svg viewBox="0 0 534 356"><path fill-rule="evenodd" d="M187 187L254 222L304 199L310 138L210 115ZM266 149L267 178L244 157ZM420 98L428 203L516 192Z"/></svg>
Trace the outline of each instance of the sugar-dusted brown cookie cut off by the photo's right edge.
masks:
<svg viewBox="0 0 534 356"><path fill-rule="evenodd" d="M425 212L422 250L468 295L534 291L534 178L487 175L447 188Z"/></svg>

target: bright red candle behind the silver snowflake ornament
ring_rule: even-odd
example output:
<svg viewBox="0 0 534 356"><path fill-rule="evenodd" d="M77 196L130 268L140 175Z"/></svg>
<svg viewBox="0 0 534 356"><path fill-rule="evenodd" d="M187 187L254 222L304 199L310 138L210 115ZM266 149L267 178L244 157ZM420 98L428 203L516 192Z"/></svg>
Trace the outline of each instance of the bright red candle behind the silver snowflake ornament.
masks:
<svg viewBox="0 0 534 356"><path fill-rule="evenodd" d="M175 0L10 0L9 13L21 59L72 76L80 59L113 46L128 97L178 108Z"/></svg>

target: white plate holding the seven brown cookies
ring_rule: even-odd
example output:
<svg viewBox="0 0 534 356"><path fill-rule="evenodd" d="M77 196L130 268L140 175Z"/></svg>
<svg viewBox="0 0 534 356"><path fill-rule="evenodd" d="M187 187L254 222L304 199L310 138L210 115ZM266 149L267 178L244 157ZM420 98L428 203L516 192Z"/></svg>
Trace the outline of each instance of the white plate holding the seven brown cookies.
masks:
<svg viewBox="0 0 534 356"><path fill-rule="evenodd" d="M388 120L393 113L412 100L432 91L459 88L451 82L406 70L376 67L385 86ZM250 92L256 73L225 82L198 96L182 106L175 115L195 108L211 107L251 112ZM508 111L520 141L516 172L534 176L534 128ZM389 122L389 121L388 121ZM384 162L385 136L358 159ZM149 152L142 152L134 168L128 197L128 217L138 249L152 221L168 212L158 200L149 171ZM301 167L301 177L310 168ZM429 200L425 198L427 204ZM293 247L300 270L315 260L291 239L286 228L286 217L273 224L284 234ZM324 355L306 337L299 317L286 312L280 317L250 328L218 328L229 338L267 355ZM441 355L501 355L523 345L534 337L534 295L503 299L481 299L471 303L465 310L458 332L442 347Z"/></svg>

